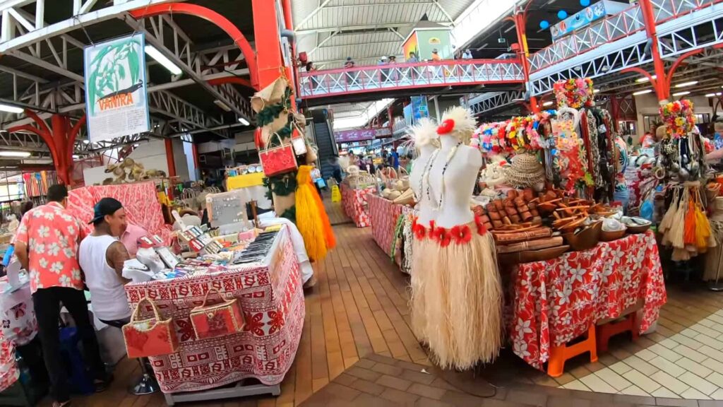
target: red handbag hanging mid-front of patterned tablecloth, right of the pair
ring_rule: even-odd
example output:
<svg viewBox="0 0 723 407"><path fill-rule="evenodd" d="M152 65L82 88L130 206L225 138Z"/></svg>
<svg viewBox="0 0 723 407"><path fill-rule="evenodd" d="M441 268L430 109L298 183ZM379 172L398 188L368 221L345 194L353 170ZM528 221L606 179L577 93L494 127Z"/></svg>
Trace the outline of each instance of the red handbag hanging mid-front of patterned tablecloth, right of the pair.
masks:
<svg viewBox="0 0 723 407"><path fill-rule="evenodd" d="M223 302L208 305L210 293L217 293ZM198 339L219 337L241 332L244 329L243 315L236 298L226 300L218 290L211 288L203 298L203 303L191 310L191 324Z"/></svg>

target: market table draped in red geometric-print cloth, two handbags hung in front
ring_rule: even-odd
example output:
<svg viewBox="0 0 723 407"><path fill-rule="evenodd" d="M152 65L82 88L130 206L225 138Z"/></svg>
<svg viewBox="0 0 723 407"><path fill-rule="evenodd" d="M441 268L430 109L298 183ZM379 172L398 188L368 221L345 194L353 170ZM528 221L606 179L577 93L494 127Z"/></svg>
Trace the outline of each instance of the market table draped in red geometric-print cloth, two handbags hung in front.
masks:
<svg viewBox="0 0 723 407"><path fill-rule="evenodd" d="M155 319L171 321L175 349L149 358L170 405L238 395L278 395L278 385L294 361L304 324L304 294L287 227L261 232L235 251L221 251L218 256L224 253L225 261L213 256L182 261L170 276L174 278L168 280L126 285L131 308L142 306L139 319L158 313ZM241 321L229 325L232 316L215 319L209 312L208 320L200 324L194 309L205 307L207 300L237 303L240 312L236 318ZM140 338L140 348L145 340ZM126 343L130 354L134 344L129 343L129 335ZM257 387L265 389L235 395L228 394L228 387L218 389L247 378L257 379L262 383ZM184 393L202 390L210 396ZM214 391L219 393L214 396Z"/></svg>

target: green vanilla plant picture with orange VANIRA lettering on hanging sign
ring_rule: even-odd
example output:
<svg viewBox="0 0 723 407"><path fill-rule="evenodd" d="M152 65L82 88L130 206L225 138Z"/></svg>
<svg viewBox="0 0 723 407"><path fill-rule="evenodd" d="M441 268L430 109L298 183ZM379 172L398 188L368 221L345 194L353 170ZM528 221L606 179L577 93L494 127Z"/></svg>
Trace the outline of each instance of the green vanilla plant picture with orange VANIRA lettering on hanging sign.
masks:
<svg viewBox="0 0 723 407"><path fill-rule="evenodd" d="M132 93L143 85L140 70L141 38L133 36L108 43L93 56L85 72L90 114L132 104Z"/></svg>

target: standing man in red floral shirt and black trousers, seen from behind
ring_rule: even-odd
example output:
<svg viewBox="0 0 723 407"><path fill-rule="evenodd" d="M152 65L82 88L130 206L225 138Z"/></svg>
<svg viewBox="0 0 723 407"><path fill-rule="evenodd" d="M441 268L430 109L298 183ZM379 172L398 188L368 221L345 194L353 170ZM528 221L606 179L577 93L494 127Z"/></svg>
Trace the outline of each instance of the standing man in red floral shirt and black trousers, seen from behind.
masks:
<svg viewBox="0 0 723 407"><path fill-rule="evenodd" d="M77 259L82 229L77 219L65 209L67 199L65 185L48 188L48 204L28 211L15 235L15 254L30 273L30 291L43 358L51 379L54 407L70 403L67 371L60 357L60 303L70 312L77 326L86 361L93 369L96 390L105 390L108 385L98 340L88 317Z"/></svg>

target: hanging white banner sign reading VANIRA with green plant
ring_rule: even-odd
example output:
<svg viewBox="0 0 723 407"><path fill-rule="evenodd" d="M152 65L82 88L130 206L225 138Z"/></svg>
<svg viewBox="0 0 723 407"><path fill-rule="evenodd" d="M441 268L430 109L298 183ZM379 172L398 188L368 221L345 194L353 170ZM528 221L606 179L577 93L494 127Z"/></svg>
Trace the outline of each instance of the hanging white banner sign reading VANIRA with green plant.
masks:
<svg viewBox="0 0 723 407"><path fill-rule="evenodd" d="M150 131L143 33L86 46L83 65L92 143Z"/></svg>

